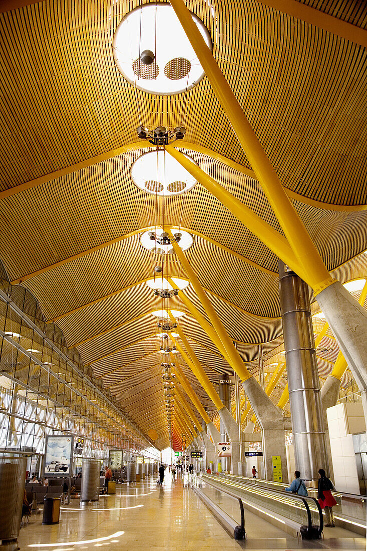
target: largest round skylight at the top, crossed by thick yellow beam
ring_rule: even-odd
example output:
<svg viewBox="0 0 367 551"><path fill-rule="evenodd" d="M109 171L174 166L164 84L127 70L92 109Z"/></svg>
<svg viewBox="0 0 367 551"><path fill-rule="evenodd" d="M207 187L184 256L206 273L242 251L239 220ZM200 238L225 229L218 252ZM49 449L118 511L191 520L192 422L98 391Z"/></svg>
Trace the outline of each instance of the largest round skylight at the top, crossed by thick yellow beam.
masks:
<svg viewBox="0 0 367 551"><path fill-rule="evenodd" d="M197 15L191 16L212 50L208 29ZM125 15L115 31L112 48L118 71L145 92L179 94L204 77L170 4L144 4Z"/></svg>

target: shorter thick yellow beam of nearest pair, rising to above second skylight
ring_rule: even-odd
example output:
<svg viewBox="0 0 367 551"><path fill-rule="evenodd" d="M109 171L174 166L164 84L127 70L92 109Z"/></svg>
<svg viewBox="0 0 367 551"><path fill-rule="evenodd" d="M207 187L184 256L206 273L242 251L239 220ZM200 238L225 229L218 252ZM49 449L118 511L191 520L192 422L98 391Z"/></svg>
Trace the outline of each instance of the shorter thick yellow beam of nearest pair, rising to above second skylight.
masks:
<svg viewBox="0 0 367 551"><path fill-rule="evenodd" d="M172 145L166 146L166 151L176 159L177 163L180 163L190 174L196 178L212 195L217 197L228 210L234 215L235 218L240 220L246 228L248 228L258 239L260 239L269 249L271 249L275 255L279 258L282 257L288 266L292 266L296 273L299 273L300 266L298 260L290 248L287 239L277 230L274 230L271 225L265 222L257 214L253 213L249 207L246 207L244 203L241 203L238 198L227 191L218 182L213 180L206 174L198 165L191 162L190 159L182 155Z"/></svg>

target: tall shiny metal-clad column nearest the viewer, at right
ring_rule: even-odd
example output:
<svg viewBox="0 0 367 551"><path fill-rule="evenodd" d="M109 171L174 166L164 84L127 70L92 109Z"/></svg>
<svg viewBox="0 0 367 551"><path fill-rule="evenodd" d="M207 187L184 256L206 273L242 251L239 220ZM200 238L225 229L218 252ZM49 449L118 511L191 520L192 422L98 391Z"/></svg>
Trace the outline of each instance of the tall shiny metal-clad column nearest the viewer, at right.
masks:
<svg viewBox="0 0 367 551"><path fill-rule="evenodd" d="M302 478L317 480L328 458L308 289L280 260L279 293L295 466Z"/></svg>

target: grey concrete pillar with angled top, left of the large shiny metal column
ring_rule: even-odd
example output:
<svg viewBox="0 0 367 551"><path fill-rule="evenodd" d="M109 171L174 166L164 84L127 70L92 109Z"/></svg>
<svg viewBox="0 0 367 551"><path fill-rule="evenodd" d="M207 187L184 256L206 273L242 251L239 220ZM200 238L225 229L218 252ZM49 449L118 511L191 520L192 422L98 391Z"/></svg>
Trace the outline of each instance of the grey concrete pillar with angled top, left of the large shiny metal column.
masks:
<svg viewBox="0 0 367 551"><path fill-rule="evenodd" d="M267 480L273 480L273 456L280 456L283 480L287 480L288 470L287 456L285 455L283 415L274 406L256 379L250 377L250 379L242 382L242 386L261 427L265 477Z"/></svg>

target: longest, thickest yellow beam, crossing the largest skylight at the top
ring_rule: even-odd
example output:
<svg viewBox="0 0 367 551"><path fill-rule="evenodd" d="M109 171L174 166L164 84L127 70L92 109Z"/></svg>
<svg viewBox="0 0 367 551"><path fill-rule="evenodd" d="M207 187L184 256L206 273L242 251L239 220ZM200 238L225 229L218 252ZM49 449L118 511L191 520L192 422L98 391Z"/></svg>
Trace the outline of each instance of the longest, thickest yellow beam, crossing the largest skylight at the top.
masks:
<svg viewBox="0 0 367 551"><path fill-rule="evenodd" d="M186 8L183 0L170 0L170 4L185 30L214 93L220 105L222 105L242 149L246 153L247 159L249 159L280 226L282 226L298 263L295 272L314 289L317 295L322 289L334 283L335 280L330 276L319 251L317 251L303 222L290 202L276 171L215 61L212 51L206 45L194 23L191 13ZM280 255L280 257L283 258L283 255ZM292 264L290 266L292 267Z"/></svg>

